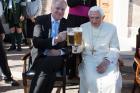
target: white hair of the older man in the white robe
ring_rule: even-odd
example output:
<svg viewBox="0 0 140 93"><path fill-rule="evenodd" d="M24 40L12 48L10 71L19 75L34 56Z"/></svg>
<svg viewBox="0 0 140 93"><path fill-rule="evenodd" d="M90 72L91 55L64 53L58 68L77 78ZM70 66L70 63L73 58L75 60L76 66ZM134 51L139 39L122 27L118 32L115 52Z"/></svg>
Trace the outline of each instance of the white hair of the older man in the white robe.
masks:
<svg viewBox="0 0 140 93"><path fill-rule="evenodd" d="M93 6L89 9L88 11L88 16L90 16L90 13L91 12L99 12L99 14L101 15L101 17L103 17L105 14L104 14L104 11L101 7L99 6Z"/></svg>

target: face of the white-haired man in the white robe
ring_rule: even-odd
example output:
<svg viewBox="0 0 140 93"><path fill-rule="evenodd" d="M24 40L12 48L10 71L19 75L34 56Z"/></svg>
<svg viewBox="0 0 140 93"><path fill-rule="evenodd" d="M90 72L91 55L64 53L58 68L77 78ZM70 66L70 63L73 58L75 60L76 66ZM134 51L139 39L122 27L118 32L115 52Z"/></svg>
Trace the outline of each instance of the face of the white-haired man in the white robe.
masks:
<svg viewBox="0 0 140 93"><path fill-rule="evenodd" d="M103 18L104 17L101 17L100 13L97 11L90 12L90 16L89 16L90 22L91 22L92 26L94 26L96 28L100 26Z"/></svg>

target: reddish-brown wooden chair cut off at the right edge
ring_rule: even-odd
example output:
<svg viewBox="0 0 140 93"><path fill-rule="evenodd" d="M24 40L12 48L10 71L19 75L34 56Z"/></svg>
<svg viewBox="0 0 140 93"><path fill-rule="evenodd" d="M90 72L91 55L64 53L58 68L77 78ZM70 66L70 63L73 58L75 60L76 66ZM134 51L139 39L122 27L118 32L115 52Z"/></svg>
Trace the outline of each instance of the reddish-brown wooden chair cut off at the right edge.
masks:
<svg viewBox="0 0 140 93"><path fill-rule="evenodd" d="M135 93L136 88L140 85L140 28L138 30L138 35L136 36L136 52L134 56L133 69L135 71L135 78L132 93Z"/></svg>

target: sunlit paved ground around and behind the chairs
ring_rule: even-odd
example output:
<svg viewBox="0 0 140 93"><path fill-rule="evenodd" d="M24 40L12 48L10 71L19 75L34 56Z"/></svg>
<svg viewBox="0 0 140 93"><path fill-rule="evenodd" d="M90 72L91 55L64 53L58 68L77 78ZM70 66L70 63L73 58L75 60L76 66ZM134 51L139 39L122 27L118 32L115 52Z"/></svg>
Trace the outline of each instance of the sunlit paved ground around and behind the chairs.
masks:
<svg viewBox="0 0 140 93"><path fill-rule="evenodd" d="M7 44L5 45L5 48L7 49ZM23 62L21 61L21 57L29 51L27 46L23 46L22 52L7 51L8 56L8 63L10 66L10 69L12 71L14 79L16 79L20 86L18 87L12 87L9 84L5 84L4 81L0 81L0 93L24 93L23 91L23 85L22 85L22 66ZM133 54L132 51L123 51L121 52L121 59L124 61L124 67L121 67L121 72L123 76L123 89L122 93L131 93L132 87L133 87L133 79L134 79L134 72L132 69L132 63L133 63ZM74 81L75 82L75 81ZM110 82L110 81L109 81ZM66 93L78 93L78 85L75 86L67 86ZM55 90L53 90L53 93L55 93ZM140 93L140 91L137 91L137 93Z"/></svg>

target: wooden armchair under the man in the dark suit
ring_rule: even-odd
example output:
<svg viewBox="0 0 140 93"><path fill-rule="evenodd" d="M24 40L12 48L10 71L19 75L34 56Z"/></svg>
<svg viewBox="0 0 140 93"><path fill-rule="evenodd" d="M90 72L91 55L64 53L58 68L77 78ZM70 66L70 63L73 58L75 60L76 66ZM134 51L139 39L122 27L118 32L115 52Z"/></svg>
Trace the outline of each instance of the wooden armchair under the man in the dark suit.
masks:
<svg viewBox="0 0 140 93"><path fill-rule="evenodd" d="M22 60L24 62L23 64L23 72L22 72L22 79L23 79L23 87L24 87L24 93L28 93L29 91L29 80L31 80L35 74L35 72L30 70L31 67L31 61L30 61L30 53L27 53L23 56ZM65 60L66 63L66 60ZM59 84L57 83L59 82ZM60 84L61 82L61 84ZM63 73L62 75L57 76L56 75L56 83L54 84L54 87L57 87L56 93L59 93L61 88L63 89L63 93L65 93L66 89L66 67L65 64L63 66Z"/></svg>

